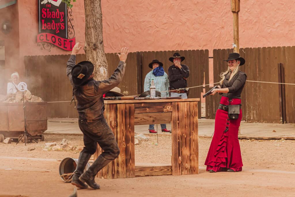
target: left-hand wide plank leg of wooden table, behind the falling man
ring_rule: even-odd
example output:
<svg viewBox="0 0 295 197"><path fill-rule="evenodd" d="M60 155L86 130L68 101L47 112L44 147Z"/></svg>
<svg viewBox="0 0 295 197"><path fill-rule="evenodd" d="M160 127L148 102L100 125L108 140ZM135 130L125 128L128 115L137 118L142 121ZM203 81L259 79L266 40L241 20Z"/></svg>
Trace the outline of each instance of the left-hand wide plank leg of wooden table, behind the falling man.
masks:
<svg viewBox="0 0 295 197"><path fill-rule="evenodd" d="M98 176L106 179L135 177L134 104L106 104L104 116L117 139L120 154ZM94 159L101 153L98 146Z"/></svg>

